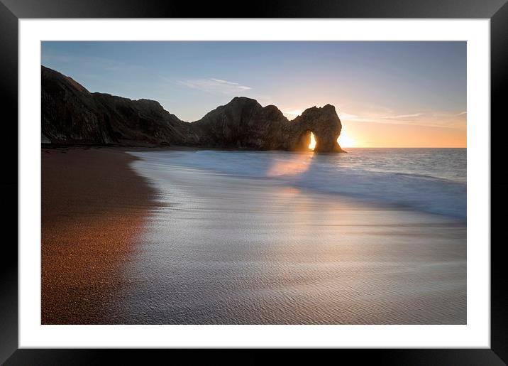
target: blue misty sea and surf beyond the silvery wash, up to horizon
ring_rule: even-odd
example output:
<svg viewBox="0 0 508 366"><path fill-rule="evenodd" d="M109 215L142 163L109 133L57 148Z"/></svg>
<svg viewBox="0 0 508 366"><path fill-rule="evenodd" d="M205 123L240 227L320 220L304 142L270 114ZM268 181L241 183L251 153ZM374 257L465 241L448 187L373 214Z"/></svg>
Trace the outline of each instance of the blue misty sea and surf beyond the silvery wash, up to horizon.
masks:
<svg viewBox="0 0 508 366"><path fill-rule="evenodd" d="M261 178L370 203L466 218L466 149L348 149L348 154L282 151L157 151L138 157L228 176Z"/></svg>

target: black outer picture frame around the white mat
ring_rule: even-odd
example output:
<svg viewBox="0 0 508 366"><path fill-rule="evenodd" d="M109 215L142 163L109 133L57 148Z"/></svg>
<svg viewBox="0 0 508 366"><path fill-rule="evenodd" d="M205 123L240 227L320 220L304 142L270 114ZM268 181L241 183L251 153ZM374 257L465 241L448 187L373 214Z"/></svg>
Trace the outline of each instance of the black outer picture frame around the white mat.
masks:
<svg viewBox="0 0 508 366"><path fill-rule="evenodd" d="M0 105L4 174L0 181L4 203L4 239L0 254L0 362L4 365L95 365L106 358L114 364L148 363L166 352L188 350L35 350L18 349L18 19L19 18L490 18L491 52L491 348L439 350L337 350L355 362L375 360L380 365L506 365L508 363L508 283L503 247L503 210L508 204L508 178L504 169L506 119L504 95L508 86L507 0L348 0L221 2L148 0L0 0ZM492 133L495 129L495 133ZM14 137L16 136L16 138ZM14 159L16 156L16 159ZM9 158L7 158L9 157ZM474 274L468 274L474 275ZM216 352L207 352L214 357ZM297 351L295 355L298 355ZM254 362L251 352L241 356ZM209 359L211 360L211 359ZM157 363L157 362L150 362Z"/></svg>

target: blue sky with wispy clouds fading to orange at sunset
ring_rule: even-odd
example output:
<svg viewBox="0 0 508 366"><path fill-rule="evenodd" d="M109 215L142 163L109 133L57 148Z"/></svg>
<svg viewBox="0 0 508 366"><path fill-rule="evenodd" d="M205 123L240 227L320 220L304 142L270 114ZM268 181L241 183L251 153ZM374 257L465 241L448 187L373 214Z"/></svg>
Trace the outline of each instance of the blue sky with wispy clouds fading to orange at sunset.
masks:
<svg viewBox="0 0 508 366"><path fill-rule="evenodd" d="M233 97L288 119L333 104L343 147L465 147L465 42L43 42L91 92L155 99L195 121Z"/></svg>

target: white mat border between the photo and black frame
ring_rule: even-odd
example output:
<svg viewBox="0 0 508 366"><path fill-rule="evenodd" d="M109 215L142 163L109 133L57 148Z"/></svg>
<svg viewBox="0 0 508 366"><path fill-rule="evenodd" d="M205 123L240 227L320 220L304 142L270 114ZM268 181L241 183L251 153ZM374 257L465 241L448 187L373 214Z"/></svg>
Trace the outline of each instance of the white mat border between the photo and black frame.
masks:
<svg viewBox="0 0 508 366"><path fill-rule="evenodd" d="M40 41L52 40L468 41L467 325L40 325ZM490 348L490 20L20 19L18 76L19 348Z"/></svg>

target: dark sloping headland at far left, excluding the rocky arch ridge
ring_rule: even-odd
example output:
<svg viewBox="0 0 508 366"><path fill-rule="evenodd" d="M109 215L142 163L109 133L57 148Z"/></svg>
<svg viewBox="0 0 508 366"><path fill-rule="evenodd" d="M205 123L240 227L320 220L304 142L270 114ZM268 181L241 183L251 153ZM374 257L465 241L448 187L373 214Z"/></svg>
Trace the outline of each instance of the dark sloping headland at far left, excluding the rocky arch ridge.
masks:
<svg viewBox="0 0 508 366"><path fill-rule="evenodd" d="M42 67L42 130L59 144L195 144L189 124L153 100L91 93Z"/></svg>

